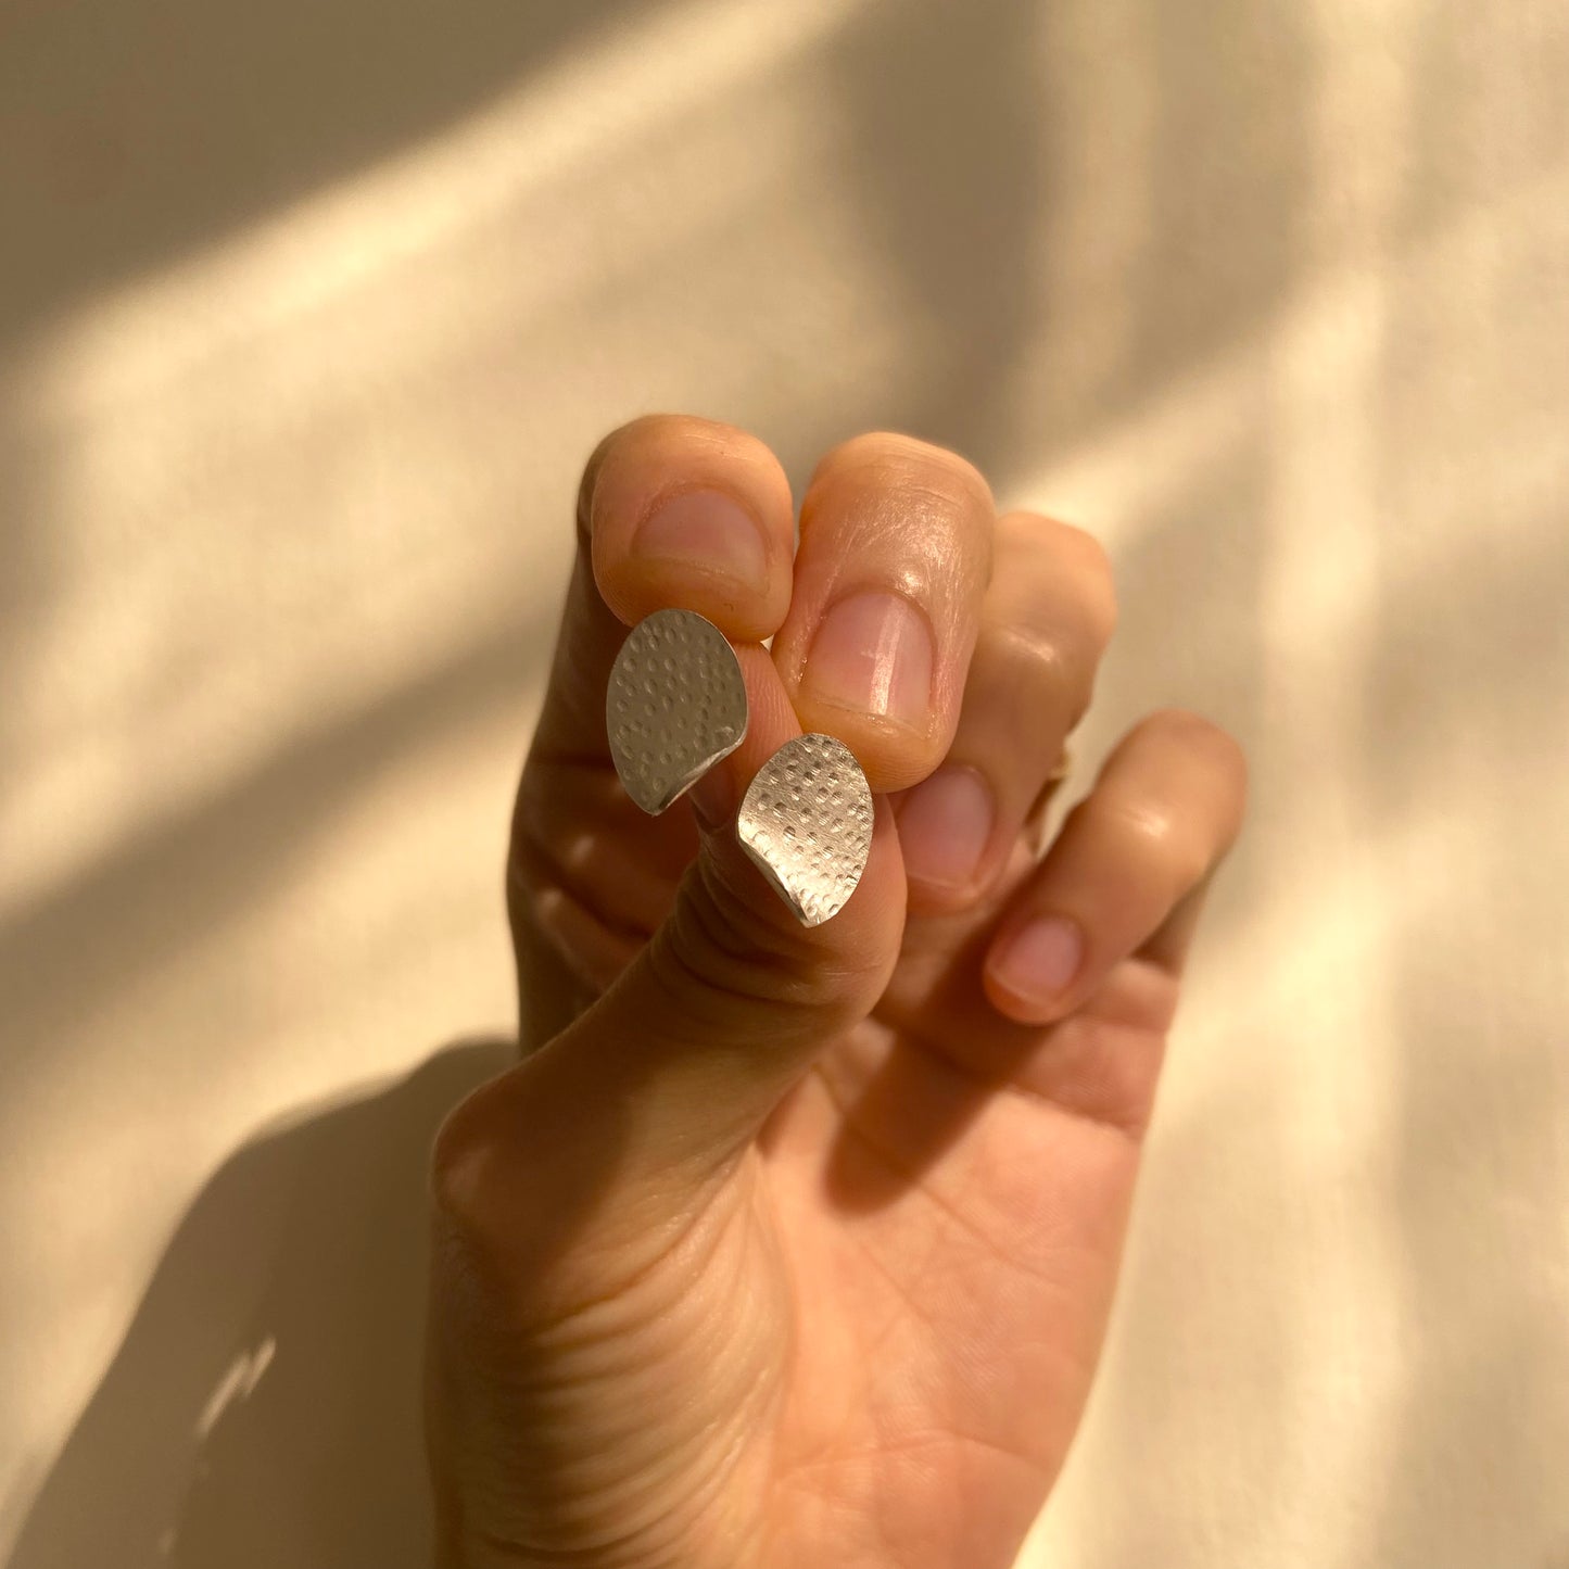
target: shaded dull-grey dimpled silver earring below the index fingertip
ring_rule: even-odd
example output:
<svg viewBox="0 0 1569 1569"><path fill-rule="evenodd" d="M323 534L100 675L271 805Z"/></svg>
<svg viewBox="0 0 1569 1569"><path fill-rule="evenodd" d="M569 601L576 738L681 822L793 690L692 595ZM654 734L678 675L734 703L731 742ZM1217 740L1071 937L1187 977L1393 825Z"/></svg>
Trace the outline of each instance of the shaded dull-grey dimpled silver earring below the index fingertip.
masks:
<svg viewBox="0 0 1569 1569"><path fill-rule="evenodd" d="M604 700L610 756L626 794L661 813L747 734L747 686L725 634L692 610L632 628Z"/></svg>

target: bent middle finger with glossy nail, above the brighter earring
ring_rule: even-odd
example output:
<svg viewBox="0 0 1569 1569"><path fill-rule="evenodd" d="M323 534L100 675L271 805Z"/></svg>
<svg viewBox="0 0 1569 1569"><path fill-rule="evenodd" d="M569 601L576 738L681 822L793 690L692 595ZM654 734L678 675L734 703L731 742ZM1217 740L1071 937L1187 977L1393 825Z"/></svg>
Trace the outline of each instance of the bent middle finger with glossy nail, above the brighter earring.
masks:
<svg viewBox="0 0 1569 1569"><path fill-rule="evenodd" d="M844 741L872 789L916 783L948 750L992 527L976 469L910 436L858 436L817 464L774 659L802 723Z"/></svg>

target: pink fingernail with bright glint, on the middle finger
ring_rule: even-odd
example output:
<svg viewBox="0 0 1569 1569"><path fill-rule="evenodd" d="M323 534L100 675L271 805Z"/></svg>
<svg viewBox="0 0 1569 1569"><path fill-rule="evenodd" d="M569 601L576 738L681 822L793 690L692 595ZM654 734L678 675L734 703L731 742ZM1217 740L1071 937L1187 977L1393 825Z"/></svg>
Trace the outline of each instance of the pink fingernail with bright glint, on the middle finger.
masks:
<svg viewBox="0 0 1569 1569"><path fill-rule="evenodd" d="M926 728L932 708L932 634L902 595L855 593L822 618L805 686L822 703Z"/></svg>

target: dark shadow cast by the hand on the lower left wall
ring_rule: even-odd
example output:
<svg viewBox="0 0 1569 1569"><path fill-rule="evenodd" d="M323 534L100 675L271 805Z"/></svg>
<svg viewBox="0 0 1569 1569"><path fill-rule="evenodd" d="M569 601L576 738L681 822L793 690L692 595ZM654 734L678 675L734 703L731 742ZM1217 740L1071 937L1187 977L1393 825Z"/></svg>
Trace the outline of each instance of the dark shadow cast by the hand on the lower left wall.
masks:
<svg viewBox="0 0 1569 1569"><path fill-rule="evenodd" d="M449 1047L224 1163L9 1569L430 1563L425 1166L446 1112L515 1050Z"/></svg>

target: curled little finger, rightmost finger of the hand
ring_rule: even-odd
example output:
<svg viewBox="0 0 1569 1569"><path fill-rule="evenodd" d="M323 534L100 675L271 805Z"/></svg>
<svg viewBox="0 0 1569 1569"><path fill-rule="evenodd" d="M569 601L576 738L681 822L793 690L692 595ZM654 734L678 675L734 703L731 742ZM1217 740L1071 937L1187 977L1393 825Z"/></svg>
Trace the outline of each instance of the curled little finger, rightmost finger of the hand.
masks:
<svg viewBox="0 0 1569 1569"><path fill-rule="evenodd" d="M1178 711L1144 720L998 924L984 963L993 1006L1045 1025L1073 1012L1139 949L1180 970L1244 797L1241 748L1225 731Z"/></svg>

